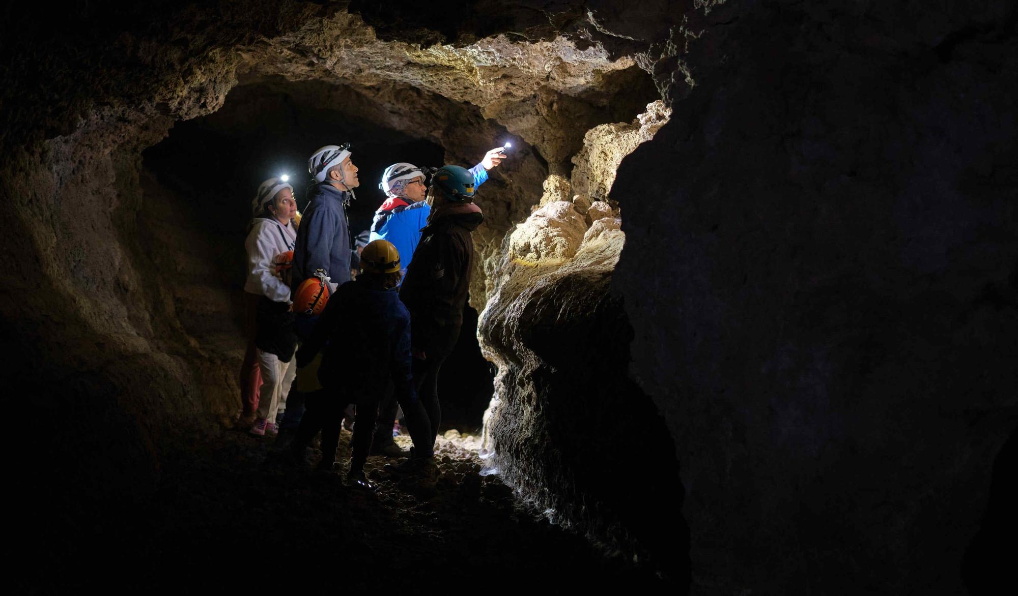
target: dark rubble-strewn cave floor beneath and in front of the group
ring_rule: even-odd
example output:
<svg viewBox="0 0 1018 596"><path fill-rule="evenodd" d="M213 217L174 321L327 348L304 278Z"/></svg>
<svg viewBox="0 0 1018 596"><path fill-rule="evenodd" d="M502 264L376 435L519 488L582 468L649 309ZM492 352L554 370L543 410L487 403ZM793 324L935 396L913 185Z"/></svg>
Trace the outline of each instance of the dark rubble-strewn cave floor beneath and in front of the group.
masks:
<svg viewBox="0 0 1018 596"><path fill-rule="evenodd" d="M498 476L482 476L468 449L474 437L448 435L439 439L437 481L398 478L373 457L365 472L379 489L371 492L344 483L345 430L344 471L332 474L285 463L273 438L213 433L164 460L152 502L97 515L107 521L84 528L89 538L66 553L78 572L43 583L147 592L664 587L549 523Z"/></svg>

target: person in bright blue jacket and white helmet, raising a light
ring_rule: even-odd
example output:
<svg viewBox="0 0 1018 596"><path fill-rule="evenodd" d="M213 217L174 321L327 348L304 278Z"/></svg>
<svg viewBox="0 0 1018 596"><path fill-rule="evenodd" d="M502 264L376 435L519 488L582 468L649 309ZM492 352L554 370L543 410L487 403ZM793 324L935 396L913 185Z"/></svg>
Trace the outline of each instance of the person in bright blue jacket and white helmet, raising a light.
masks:
<svg viewBox="0 0 1018 596"><path fill-rule="evenodd" d="M504 147L493 148L480 163L468 171L474 188L488 180L488 171L506 158ZM413 164L393 164L385 169L379 184L386 193L385 202L375 212L370 240L388 240L403 255L403 273L420 241L420 230L428 223L431 205L425 201L425 173Z"/></svg>

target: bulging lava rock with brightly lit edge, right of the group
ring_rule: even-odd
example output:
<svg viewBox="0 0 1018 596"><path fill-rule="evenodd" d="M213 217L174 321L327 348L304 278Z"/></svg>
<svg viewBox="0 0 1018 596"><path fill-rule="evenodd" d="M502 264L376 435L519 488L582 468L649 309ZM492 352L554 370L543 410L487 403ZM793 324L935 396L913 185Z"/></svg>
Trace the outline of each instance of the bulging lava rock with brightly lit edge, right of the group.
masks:
<svg viewBox="0 0 1018 596"><path fill-rule="evenodd" d="M625 242L613 223L566 250L585 223L572 203L553 202L512 233L478 330L499 367L483 457L553 520L685 585L687 530L662 515L684 497L672 441L652 402L610 364L628 360L631 337L609 294Z"/></svg>

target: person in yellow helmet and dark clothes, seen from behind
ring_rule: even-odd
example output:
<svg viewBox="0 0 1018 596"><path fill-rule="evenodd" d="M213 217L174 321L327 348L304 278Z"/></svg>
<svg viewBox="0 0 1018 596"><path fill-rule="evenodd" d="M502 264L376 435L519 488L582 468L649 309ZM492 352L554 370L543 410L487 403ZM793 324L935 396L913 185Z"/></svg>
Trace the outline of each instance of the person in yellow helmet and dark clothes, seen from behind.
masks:
<svg viewBox="0 0 1018 596"><path fill-rule="evenodd" d="M363 466L378 414L379 388L391 384L399 402L411 411L410 406L419 406L411 372L410 315L396 293L402 277L399 253L390 242L376 240L360 255L360 272L355 281L340 286L329 299L309 338L297 351L298 375L304 374L321 353L318 380L323 389L307 395L307 412L293 448L294 455L302 458L321 429L322 460L318 467L331 471L343 410L355 403L347 479L373 488L364 478ZM423 443L431 431L426 425L411 424L410 435Z"/></svg>

